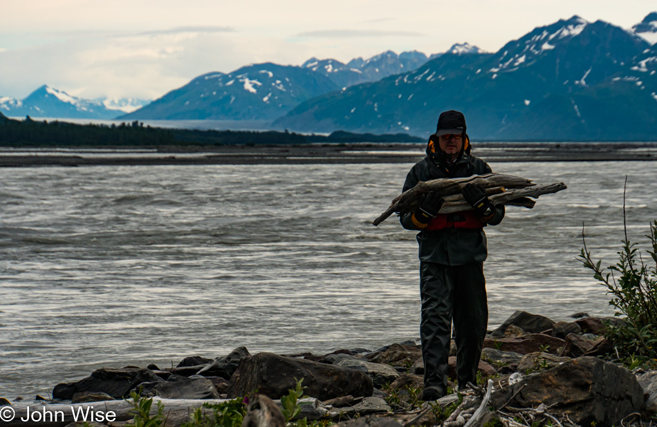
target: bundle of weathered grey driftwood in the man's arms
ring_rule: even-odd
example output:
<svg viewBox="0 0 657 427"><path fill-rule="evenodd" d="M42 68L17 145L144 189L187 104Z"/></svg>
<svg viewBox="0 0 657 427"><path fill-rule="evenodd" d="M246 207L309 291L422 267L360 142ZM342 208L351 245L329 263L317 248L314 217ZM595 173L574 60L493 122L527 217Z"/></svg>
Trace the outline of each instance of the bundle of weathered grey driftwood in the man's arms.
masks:
<svg viewBox="0 0 657 427"><path fill-rule="evenodd" d="M415 187L394 198L390 207L376 218L373 224L379 225L393 213L406 214L415 211L429 191L436 191L445 200L439 212L440 214L468 211L472 207L461 194L466 184L474 184L484 189L488 194L488 200L493 205L521 206L529 209L533 208L536 203L535 200L530 198L538 198L542 194L556 193L566 189L566 184L563 182L534 184L526 178L502 173L472 175L468 178L440 178L420 181Z"/></svg>

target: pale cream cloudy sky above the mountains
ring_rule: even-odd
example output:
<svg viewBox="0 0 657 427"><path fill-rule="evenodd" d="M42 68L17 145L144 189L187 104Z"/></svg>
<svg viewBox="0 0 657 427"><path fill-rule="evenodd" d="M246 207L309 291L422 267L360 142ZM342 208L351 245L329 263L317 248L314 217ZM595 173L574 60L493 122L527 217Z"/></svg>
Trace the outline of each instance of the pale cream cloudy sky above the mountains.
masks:
<svg viewBox="0 0 657 427"><path fill-rule="evenodd" d="M198 75L261 62L495 52L579 15L622 28L655 0L0 0L0 97L42 84L95 99L156 99Z"/></svg>

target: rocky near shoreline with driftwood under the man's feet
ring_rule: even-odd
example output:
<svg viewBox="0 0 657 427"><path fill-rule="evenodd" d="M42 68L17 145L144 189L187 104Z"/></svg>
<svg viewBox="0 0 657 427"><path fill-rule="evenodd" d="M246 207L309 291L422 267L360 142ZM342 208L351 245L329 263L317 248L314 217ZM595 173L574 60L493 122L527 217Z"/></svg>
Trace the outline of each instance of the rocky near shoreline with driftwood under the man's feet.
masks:
<svg viewBox="0 0 657 427"><path fill-rule="evenodd" d="M616 352L604 331L618 318L580 313L573 319L554 322L515 312L489 331L478 384L456 393L456 384L450 381L448 395L430 403L419 401L424 372L420 346L407 341L377 350L342 349L330 354L250 354L240 347L214 359L185 357L170 368L102 368L80 381L57 384L52 399L37 397L39 403L0 399L0 415L6 413L2 408L15 413L5 423L8 426L25 426L21 419L31 426L66 426L73 419L64 416L64 408L73 412L95 404L114 414L95 426L124 427L132 418L124 399L138 391L161 401L168 414L164 425L176 427L203 402L254 397L253 390L280 405L279 399L303 379L309 398L299 401L302 411L297 418L322 420L323 425L518 427L548 421L561 427L649 425L657 412L657 371L631 372L604 361ZM455 354L452 342L450 378L456 377ZM31 419L30 410L39 419ZM56 417L59 412L61 419Z"/></svg>

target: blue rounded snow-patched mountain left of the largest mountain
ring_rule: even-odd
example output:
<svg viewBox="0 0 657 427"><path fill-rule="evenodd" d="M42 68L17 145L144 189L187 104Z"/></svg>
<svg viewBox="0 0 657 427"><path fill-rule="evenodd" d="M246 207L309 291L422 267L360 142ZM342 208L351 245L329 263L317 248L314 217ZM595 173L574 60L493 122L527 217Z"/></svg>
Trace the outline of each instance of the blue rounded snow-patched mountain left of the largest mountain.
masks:
<svg viewBox="0 0 657 427"><path fill-rule="evenodd" d="M255 64L230 74L207 73L171 91L127 120L274 120L301 102L339 87L298 66Z"/></svg>

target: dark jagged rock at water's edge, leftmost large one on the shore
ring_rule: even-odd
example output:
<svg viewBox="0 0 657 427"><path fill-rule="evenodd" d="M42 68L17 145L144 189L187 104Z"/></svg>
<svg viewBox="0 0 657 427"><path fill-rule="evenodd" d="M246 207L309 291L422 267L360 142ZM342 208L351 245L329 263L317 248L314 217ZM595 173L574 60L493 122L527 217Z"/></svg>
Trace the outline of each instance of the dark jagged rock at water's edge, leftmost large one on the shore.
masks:
<svg viewBox="0 0 657 427"><path fill-rule="evenodd" d="M140 383L162 381L146 368L100 368L91 376L73 383L60 383L53 388L53 398L70 400L77 392L104 392L120 399Z"/></svg>

